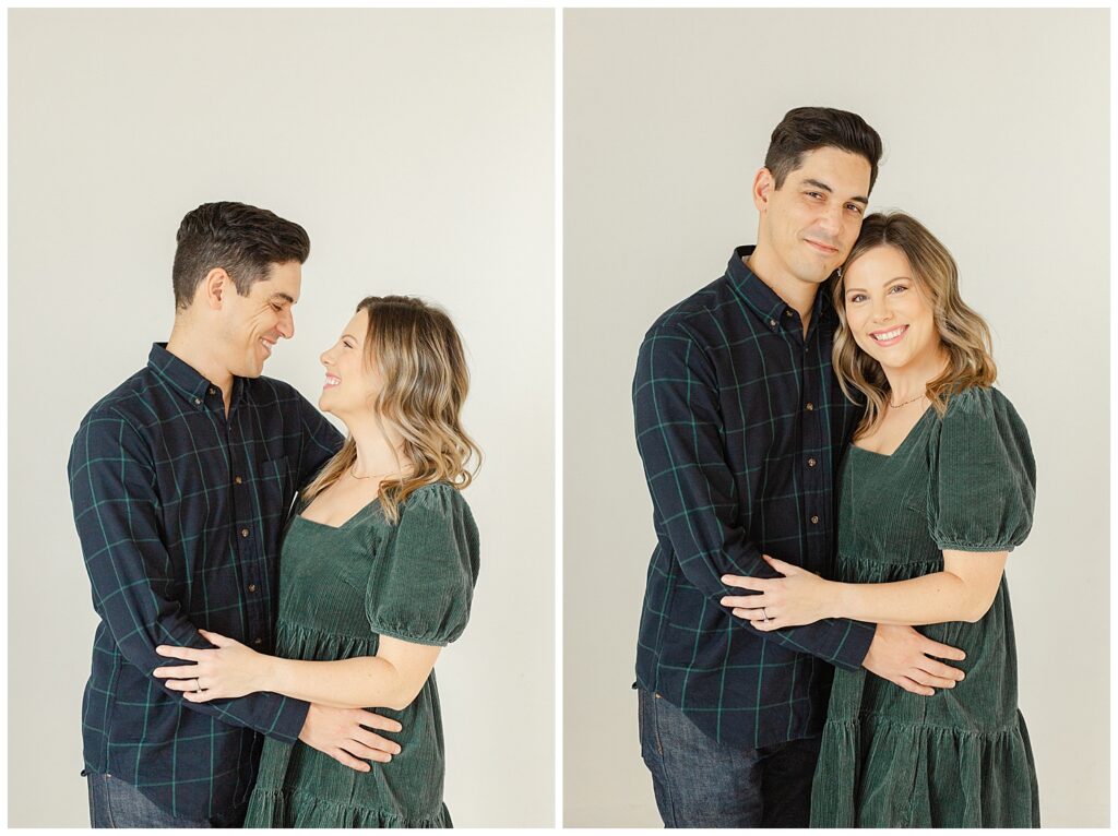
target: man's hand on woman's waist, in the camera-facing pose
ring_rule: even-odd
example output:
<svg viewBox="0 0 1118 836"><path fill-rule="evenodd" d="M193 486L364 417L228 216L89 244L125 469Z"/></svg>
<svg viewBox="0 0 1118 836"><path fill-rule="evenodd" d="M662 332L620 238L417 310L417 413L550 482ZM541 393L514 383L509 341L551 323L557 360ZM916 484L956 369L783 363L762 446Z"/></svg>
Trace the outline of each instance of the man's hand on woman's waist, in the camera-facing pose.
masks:
<svg viewBox="0 0 1118 836"><path fill-rule="evenodd" d="M963 672L930 656L961 662L963 650L941 645L911 627L879 624L862 667L913 694L931 696L934 688L954 688Z"/></svg>

